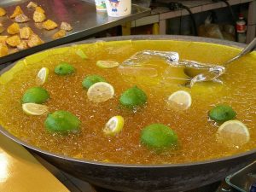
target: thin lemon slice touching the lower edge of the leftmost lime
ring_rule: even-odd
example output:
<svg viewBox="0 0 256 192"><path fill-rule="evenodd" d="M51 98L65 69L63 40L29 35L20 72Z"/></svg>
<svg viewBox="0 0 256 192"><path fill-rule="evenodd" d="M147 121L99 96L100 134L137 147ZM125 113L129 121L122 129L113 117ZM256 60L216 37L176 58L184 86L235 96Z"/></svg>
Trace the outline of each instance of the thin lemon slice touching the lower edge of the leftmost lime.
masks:
<svg viewBox="0 0 256 192"><path fill-rule="evenodd" d="M31 115L42 115L49 112L47 106L32 102L22 104L22 109L25 113Z"/></svg>

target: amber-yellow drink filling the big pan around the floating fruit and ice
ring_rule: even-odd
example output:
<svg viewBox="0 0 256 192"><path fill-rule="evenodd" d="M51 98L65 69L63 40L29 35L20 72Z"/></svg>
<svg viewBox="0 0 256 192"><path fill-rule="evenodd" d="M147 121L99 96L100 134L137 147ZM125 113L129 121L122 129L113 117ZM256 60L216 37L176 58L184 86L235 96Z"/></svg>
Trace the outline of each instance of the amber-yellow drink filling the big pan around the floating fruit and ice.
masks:
<svg viewBox="0 0 256 192"><path fill-rule="evenodd" d="M221 78L224 84L201 83L192 89L184 87L187 77L181 67L168 67L159 58L145 66L148 70L134 74L122 68L96 67L98 60L125 61L143 49L177 51L180 58L205 63L221 64L239 52L239 49L216 44L178 41L126 41L121 44L96 43L83 50L88 60L82 60L73 51L44 58L27 65L7 84L0 84L0 123L21 140L56 154L85 160L125 164L172 164L211 160L238 154L256 146L256 54L247 55L227 68ZM76 73L66 77L54 73L60 61L67 61ZM50 112L67 110L81 120L80 133L61 136L44 128L46 115L28 116L23 113L20 98L32 86L41 67L49 67L49 79L43 87L50 99L45 103ZM152 69L153 68L153 69ZM153 72L152 72L153 71ZM81 83L88 74L102 75L115 89L113 99L100 104L90 102ZM121 75L122 74L122 75ZM119 105L121 93L137 85L143 89L148 102L143 108L128 110ZM166 108L166 98L176 90L187 90L192 105L186 111ZM216 141L218 125L208 120L208 111L216 104L229 104L236 110L237 119L247 125L250 142L243 146L226 147ZM102 131L108 119L122 115L125 126L116 137L106 137ZM146 125L169 125L178 136L177 150L155 154L140 143L140 134Z"/></svg>

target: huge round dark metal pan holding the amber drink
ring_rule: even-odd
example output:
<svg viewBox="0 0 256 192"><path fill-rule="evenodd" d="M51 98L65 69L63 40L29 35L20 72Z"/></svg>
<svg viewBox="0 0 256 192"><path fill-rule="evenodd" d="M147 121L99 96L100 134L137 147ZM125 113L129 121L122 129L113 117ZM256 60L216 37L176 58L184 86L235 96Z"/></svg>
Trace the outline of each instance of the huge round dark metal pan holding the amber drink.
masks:
<svg viewBox="0 0 256 192"><path fill-rule="evenodd" d="M193 38L179 36L125 36L115 38L102 38L103 41L140 39L175 39L182 41L199 41L213 44L224 44L231 47L242 48L244 44L219 41L209 38ZM99 39L82 41L77 44L96 42ZM67 44L68 45L68 44ZM67 46L64 45L64 46ZM70 45L70 44L69 44ZM63 46L61 46L63 47ZM6 68L8 70L9 68ZM2 72L3 73L3 72ZM3 127L0 131L7 137L20 143L26 148L31 148L61 170L79 177L84 181L107 189L119 191L184 191L194 189L208 183L221 180L226 175L236 172L241 167L247 166L256 158L256 150L216 160L199 161L185 164L172 165L122 165L103 163L90 160L79 160L50 153L31 144L21 141Z"/></svg>

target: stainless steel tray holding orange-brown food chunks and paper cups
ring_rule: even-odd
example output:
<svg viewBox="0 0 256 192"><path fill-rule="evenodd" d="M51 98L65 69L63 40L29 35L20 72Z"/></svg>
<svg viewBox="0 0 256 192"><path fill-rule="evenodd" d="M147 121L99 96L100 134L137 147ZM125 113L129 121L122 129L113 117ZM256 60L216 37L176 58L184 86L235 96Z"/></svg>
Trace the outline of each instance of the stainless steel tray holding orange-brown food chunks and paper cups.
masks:
<svg viewBox="0 0 256 192"><path fill-rule="evenodd" d="M136 20L146 15L150 15L150 9L132 5L131 15L119 18L108 17L106 12L97 12L94 3L84 2L81 0L34 0L46 12L47 19L54 20L59 25L61 21L66 21L73 26L73 31L67 32L67 36L53 40L52 35L58 29L46 31L40 29L40 25L35 25L32 20L33 9L27 9L26 5L30 2L28 0L1 0L0 7L7 10L7 15L11 15L16 5L20 5L31 20L27 23L20 24L22 26L30 26L36 34L44 40L44 44L36 47L21 50L15 54L0 57L0 64L8 61L15 61L23 56L38 52L39 50L48 49L60 44L67 44L79 38L88 37L96 32L104 31L113 26L119 26L127 21ZM0 22L3 26L9 26L13 20L8 16L0 17ZM1 35L7 34L3 32Z"/></svg>

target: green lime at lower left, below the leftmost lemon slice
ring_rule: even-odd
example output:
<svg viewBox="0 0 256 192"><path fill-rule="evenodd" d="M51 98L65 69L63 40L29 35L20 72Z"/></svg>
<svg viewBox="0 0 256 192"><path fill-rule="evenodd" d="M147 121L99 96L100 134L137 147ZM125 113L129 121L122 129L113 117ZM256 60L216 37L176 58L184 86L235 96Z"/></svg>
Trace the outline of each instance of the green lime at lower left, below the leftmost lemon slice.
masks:
<svg viewBox="0 0 256 192"><path fill-rule="evenodd" d="M54 113L49 113L44 125L49 131L60 133L77 132L79 131L80 120L73 113L55 111Z"/></svg>

